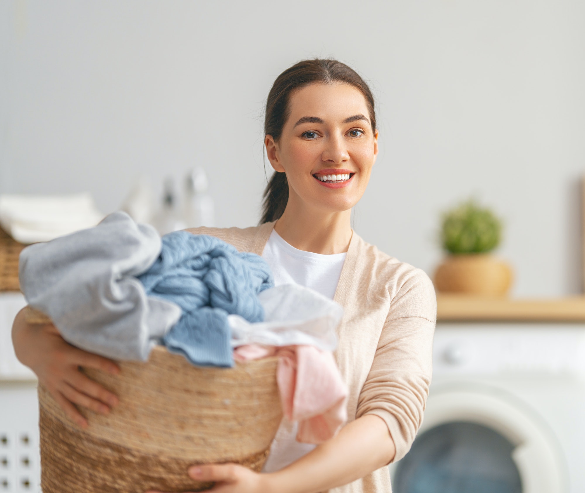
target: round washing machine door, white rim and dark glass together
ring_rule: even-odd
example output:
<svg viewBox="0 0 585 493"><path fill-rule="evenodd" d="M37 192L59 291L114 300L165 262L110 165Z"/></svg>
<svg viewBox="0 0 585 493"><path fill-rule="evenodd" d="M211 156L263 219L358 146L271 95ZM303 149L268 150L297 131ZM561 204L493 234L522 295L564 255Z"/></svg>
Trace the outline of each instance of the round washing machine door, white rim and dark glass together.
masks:
<svg viewBox="0 0 585 493"><path fill-rule="evenodd" d="M394 493L565 493L562 454L538 416L491 388L433 391Z"/></svg>

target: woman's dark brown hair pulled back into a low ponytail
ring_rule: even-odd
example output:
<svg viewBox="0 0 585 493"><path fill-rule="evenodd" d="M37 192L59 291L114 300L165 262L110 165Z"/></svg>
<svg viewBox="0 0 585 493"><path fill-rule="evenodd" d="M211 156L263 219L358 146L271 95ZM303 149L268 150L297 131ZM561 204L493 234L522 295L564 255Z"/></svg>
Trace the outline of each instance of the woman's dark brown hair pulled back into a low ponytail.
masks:
<svg viewBox="0 0 585 493"><path fill-rule="evenodd" d="M278 75L266 100L264 136L270 135L278 142L289 116L288 101L292 92L309 84L343 82L358 89L366 98L372 130L376 131L374 96L369 86L353 68L337 60L315 58L303 60ZM262 219L260 224L276 221L283 215L288 202L286 173L275 171L263 193Z"/></svg>

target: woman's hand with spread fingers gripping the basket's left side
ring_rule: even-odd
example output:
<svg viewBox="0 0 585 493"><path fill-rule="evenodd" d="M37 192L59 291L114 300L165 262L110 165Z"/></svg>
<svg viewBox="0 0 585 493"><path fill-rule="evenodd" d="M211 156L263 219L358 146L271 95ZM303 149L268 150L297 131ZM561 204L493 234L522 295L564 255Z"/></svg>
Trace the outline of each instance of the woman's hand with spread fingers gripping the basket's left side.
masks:
<svg viewBox="0 0 585 493"><path fill-rule="evenodd" d="M87 367L118 374L116 363L70 345L53 324L29 324L21 310L12 325L12 342L19 361L36 373L67 416L82 428L87 420L75 405L108 414L118 404L118 397L80 371Z"/></svg>

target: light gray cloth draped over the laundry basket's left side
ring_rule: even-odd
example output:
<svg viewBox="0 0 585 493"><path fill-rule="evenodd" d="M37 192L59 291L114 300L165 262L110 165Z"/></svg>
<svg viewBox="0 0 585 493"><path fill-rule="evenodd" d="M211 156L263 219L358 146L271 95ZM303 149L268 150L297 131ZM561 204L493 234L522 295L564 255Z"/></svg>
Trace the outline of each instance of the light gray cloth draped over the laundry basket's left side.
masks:
<svg viewBox="0 0 585 493"><path fill-rule="evenodd" d="M137 276L161 251L153 227L110 214L96 227L37 243L20 254L20 289L63 338L92 353L147 360L181 308L146 295Z"/></svg>

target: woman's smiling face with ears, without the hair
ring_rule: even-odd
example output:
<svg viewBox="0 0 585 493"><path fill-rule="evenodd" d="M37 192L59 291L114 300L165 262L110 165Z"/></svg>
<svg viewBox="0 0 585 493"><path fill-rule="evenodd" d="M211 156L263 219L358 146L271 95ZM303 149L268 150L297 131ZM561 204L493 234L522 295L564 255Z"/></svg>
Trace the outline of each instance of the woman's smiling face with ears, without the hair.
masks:
<svg viewBox="0 0 585 493"><path fill-rule="evenodd" d="M290 116L277 143L266 136L276 171L287 173L289 201L329 212L362 197L378 154L366 99L343 83L311 84L292 93Z"/></svg>

